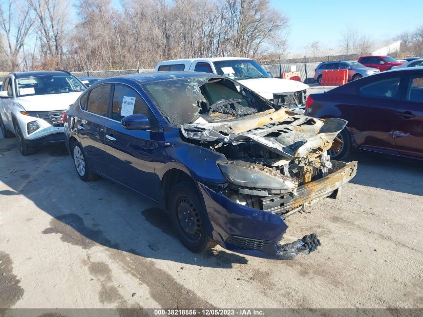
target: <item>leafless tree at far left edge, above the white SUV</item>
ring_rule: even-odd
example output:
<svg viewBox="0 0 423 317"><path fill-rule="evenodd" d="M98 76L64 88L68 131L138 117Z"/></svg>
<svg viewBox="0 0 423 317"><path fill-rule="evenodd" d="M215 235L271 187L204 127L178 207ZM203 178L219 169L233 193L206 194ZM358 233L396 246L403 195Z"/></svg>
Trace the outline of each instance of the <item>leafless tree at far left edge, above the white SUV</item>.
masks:
<svg viewBox="0 0 423 317"><path fill-rule="evenodd" d="M10 71L19 70L19 55L30 34L35 19L28 6L20 0L0 0L0 32L6 39L6 62Z"/></svg>

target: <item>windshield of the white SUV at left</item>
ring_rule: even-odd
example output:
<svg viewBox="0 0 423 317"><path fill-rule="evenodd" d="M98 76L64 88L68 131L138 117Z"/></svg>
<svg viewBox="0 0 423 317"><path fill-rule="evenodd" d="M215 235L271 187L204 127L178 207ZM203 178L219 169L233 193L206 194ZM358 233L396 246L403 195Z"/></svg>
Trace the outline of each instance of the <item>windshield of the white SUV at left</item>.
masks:
<svg viewBox="0 0 423 317"><path fill-rule="evenodd" d="M71 93L85 89L72 75L38 75L16 79L18 97Z"/></svg>

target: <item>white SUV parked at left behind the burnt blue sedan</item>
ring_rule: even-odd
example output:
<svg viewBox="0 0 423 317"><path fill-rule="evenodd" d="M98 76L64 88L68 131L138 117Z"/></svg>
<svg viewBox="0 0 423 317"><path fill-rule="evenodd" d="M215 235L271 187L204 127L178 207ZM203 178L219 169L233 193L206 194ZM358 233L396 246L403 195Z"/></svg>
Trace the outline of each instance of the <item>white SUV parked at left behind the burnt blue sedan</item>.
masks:
<svg viewBox="0 0 423 317"><path fill-rule="evenodd" d="M36 145L63 142L63 112L85 91L65 71L11 73L0 92L0 128L5 138L16 135L23 155Z"/></svg>

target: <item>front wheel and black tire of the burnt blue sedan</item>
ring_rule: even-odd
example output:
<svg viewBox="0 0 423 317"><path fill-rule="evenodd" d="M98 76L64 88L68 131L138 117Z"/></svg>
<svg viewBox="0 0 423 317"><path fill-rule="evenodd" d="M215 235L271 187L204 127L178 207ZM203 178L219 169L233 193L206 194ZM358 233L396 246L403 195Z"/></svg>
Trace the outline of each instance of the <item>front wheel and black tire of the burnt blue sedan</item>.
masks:
<svg viewBox="0 0 423 317"><path fill-rule="evenodd" d="M176 235L187 249L200 253L216 245L207 233L207 214L191 182L181 182L172 188L169 215Z"/></svg>

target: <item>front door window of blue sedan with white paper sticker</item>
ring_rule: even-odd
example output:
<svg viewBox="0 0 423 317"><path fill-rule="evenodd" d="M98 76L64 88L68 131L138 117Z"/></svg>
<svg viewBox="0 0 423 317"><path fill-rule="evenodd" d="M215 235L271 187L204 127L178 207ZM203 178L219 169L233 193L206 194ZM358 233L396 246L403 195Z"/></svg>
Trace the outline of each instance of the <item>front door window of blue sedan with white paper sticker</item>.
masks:
<svg viewBox="0 0 423 317"><path fill-rule="evenodd" d="M143 98L128 86L115 86L112 104L112 119L121 121L122 118L133 114L143 114L149 118L149 108Z"/></svg>

